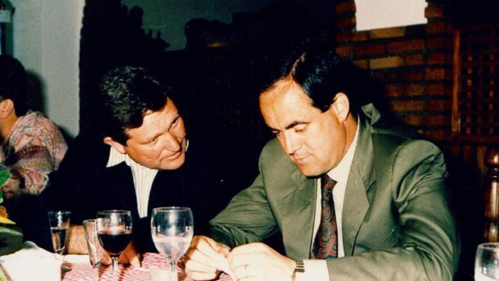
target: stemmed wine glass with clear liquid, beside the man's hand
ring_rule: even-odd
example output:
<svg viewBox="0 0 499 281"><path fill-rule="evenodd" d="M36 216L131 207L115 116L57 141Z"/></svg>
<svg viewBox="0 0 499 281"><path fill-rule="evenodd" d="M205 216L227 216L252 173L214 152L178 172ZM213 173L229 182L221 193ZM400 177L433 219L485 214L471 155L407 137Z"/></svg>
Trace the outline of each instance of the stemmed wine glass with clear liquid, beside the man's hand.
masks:
<svg viewBox="0 0 499 281"><path fill-rule="evenodd" d="M154 245L170 262L171 280L177 281L177 261L185 254L194 234L194 219L190 208L154 208L151 235Z"/></svg>

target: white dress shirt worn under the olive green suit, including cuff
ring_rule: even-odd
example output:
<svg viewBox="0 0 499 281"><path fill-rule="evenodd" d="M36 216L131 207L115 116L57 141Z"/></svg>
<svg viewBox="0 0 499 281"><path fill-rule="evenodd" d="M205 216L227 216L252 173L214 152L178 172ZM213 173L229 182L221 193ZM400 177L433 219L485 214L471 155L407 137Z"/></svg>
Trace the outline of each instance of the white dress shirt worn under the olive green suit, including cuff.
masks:
<svg viewBox="0 0 499 281"><path fill-rule="evenodd" d="M338 230L338 257L345 256L343 250L343 235L341 227L341 215L343 211L343 199L345 197L346 182L348 180L348 174L350 173L350 167L353 161L353 155L355 153L355 147L357 147L357 138L359 135L359 125L357 124L357 130L355 131L355 136L353 137L352 144L348 147L345 156L341 161L327 172L327 175L332 179L336 180L336 185L333 188L333 200L334 200L334 212L336 214L336 228ZM312 231L312 241L315 239L315 235L319 229L320 225L320 214L322 211L321 198L322 192L320 188L321 180L317 180L316 186L316 200L315 200L315 217L314 226ZM329 272L327 270L327 264L325 259L305 259L303 260L305 265L305 272L301 274L296 274L296 280L315 280L315 281L329 281Z"/></svg>

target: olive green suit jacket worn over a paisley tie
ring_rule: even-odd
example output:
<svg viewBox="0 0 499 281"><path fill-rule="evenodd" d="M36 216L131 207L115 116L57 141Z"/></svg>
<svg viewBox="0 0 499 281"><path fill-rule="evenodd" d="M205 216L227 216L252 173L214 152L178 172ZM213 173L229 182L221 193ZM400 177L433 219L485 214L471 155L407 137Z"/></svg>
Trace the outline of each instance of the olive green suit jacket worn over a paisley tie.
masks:
<svg viewBox="0 0 499 281"><path fill-rule="evenodd" d="M345 256L327 259L331 280L451 280L459 243L449 211L442 152L385 124L372 104L359 114L359 135L342 210ZM260 173L210 221L229 246L282 233L286 255L309 258L316 178L307 178L273 139Z"/></svg>

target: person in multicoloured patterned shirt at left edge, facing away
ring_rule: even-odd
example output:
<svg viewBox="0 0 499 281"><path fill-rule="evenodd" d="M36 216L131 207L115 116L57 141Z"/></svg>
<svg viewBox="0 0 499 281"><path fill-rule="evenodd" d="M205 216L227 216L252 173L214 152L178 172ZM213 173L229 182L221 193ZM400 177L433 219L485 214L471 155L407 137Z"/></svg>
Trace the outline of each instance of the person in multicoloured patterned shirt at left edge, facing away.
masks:
<svg viewBox="0 0 499 281"><path fill-rule="evenodd" d="M40 194L67 150L59 128L43 113L28 110L25 86L22 64L0 55L0 163L10 172L1 186L5 198Z"/></svg>

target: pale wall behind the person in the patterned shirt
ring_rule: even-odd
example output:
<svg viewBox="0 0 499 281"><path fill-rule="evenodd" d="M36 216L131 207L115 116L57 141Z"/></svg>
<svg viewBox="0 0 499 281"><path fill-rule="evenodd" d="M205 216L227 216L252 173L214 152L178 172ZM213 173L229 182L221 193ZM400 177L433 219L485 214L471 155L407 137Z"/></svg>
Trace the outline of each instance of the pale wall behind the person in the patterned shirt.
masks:
<svg viewBox="0 0 499 281"><path fill-rule="evenodd" d="M84 0L10 0L12 55L40 78L47 116L78 133L79 44Z"/></svg>

